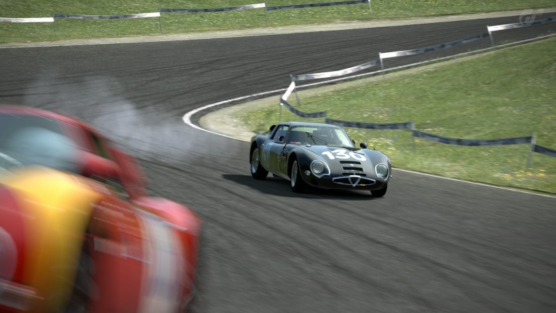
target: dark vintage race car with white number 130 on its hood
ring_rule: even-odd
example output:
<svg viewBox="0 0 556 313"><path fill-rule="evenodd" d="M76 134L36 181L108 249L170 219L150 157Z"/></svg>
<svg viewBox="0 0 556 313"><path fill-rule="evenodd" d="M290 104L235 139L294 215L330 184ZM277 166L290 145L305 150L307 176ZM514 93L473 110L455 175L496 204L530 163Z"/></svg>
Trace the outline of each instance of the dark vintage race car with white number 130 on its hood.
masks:
<svg viewBox="0 0 556 313"><path fill-rule="evenodd" d="M268 172L291 181L296 193L308 185L325 189L367 190L375 197L386 194L391 179L389 157L361 149L338 126L306 122L272 125L253 136L251 174L265 179Z"/></svg>

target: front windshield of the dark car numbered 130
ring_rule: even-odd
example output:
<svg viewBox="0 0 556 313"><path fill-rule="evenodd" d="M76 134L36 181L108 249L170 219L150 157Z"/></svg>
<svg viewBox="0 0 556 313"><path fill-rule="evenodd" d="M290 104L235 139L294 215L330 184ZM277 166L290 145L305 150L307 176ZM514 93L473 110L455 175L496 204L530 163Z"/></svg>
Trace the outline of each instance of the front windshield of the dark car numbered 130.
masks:
<svg viewBox="0 0 556 313"><path fill-rule="evenodd" d="M329 145L354 147L345 131L337 127L295 126L288 134L288 143L301 145Z"/></svg>

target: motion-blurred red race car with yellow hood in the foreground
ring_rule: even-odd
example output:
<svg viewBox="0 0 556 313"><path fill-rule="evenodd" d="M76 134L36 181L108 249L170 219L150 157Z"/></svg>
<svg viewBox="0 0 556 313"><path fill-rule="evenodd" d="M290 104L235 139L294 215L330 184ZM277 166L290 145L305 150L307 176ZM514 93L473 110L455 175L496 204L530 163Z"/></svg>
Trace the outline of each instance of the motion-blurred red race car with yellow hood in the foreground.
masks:
<svg viewBox="0 0 556 313"><path fill-rule="evenodd" d="M183 312L200 230L93 127L0 106L0 312Z"/></svg>

